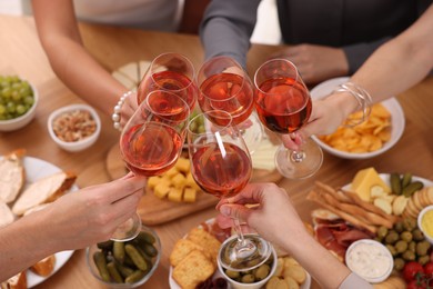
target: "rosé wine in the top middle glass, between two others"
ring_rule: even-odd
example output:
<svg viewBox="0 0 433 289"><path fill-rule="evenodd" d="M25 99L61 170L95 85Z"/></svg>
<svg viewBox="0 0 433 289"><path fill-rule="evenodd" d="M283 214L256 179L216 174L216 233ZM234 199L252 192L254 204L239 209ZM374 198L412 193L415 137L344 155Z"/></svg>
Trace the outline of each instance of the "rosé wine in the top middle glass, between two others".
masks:
<svg viewBox="0 0 433 289"><path fill-rule="evenodd" d="M254 91L250 81L233 73L214 74L200 87L199 104L202 111L223 110L232 116L232 123L248 119L253 110ZM218 119L212 122L219 123Z"/></svg>

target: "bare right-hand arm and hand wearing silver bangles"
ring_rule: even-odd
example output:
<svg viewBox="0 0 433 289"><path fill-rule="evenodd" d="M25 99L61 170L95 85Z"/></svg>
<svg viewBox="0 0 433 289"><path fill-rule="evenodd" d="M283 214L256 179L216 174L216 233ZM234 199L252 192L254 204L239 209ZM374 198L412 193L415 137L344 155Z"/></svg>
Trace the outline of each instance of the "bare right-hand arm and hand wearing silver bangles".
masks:
<svg viewBox="0 0 433 289"><path fill-rule="evenodd" d="M381 46L350 79L381 102L403 92L425 78L433 68L433 4L399 37ZM299 131L302 138L333 132L358 109L350 93L333 93L314 102L310 122ZM338 113L335 113L338 112ZM293 141L283 138L288 148Z"/></svg>

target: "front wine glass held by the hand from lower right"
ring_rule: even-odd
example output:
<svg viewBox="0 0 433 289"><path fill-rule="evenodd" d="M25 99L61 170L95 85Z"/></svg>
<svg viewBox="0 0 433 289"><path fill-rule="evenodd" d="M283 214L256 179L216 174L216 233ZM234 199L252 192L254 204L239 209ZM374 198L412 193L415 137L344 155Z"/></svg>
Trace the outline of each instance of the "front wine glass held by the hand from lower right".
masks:
<svg viewBox="0 0 433 289"><path fill-rule="evenodd" d="M204 131L192 130L195 122L204 123ZM246 186L252 175L251 157L230 113L222 110L200 113L190 120L187 134L191 173L203 191L225 198ZM269 242L255 233L243 235L239 219L233 219L233 223L236 237L225 240L219 252L222 267L241 271L266 261L272 250Z"/></svg>

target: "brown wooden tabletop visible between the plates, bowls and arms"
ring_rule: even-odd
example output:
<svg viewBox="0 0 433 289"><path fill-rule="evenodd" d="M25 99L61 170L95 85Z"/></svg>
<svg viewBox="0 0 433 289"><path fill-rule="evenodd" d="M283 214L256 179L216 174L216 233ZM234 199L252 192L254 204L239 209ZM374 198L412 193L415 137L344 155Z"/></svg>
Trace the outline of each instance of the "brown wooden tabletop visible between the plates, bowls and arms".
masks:
<svg viewBox="0 0 433 289"><path fill-rule="evenodd" d="M82 24L81 31L88 49L109 70L130 61L152 60L168 51L185 54L195 68L203 60L203 51L195 36L91 24ZM36 119L29 126L14 132L0 132L0 155L26 148L29 156L52 162L64 170L75 171L79 175L79 187L108 181L104 160L119 138L108 116L100 113L103 126L101 136L95 146L82 152L69 153L61 150L48 134L49 113L61 106L82 100L52 72L39 43L33 19L1 16L0 43L0 73L14 72L29 79L38 88L41 98ZM275 49L271 46L253 46L249 53L249 72L252 74ZM289 191L305 221L311 220L310 212L316 208L314 203L305 201L305 195L313 187L314 180L341 186L350 182L359 169L370 166L374 166L380 172L410 171L415 176L433 179L433 78L424 80L397 99L404 109L406 128L394 148L369 160L344 160L325 153L323 166L314 177L303 181L280 181L279 185ZM210 208L154 228L161 238L163 253L154 276L143 288L169 288L168 258L174 242L191 228L214 216L215 210ZM84 250L77 250L60 271L37 288L103 288L90 275L84 257Z"/></svg>

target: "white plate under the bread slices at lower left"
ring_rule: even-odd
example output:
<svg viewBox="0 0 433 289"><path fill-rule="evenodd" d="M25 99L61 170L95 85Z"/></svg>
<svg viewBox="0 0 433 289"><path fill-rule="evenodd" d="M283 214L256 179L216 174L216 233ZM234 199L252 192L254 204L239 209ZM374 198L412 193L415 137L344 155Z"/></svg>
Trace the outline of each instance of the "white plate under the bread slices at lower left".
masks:
<svg viewBox="0 0 433 289"><path fill-rule="evenodd" d="M24 157L23 165L26 168L24 186L29 186L30 183L37 181L40 178L48 177L56 172L62 171L60 168L56 167L50 162L32 157ZM78 186L73 185L70 191L77 191L78 189ZM69 260L69 258L71 258L72 253L73 250L57 252L54 269L50 276L56 273ZM42 277L33 273L30 270L27 270L27 287L32 288L47 280L50 276Z"/></svg>

